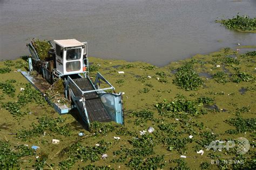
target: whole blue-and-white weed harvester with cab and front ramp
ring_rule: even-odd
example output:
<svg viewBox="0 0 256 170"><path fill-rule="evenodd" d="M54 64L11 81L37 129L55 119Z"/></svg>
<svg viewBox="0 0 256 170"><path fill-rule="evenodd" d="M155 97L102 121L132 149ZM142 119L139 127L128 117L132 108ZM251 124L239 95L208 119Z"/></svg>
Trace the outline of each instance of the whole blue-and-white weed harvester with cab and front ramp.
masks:
<svg viewBox="0 0 256 170"><path fill-rule="evenodd" d="M76 108L88 126L93 121L123 124L122 93L116 94L111 83L100 73L97 73L94 82L89 77L87 42L33 39L27 46L32 57L28 59L29 72L22 74L59 114L67 114ZM31 74L35 70L37 75ZM63 82L65 102L53 100L54 95L47 95L47 91L59 80ZM101 84L107 87L100 88Z"/></svg>

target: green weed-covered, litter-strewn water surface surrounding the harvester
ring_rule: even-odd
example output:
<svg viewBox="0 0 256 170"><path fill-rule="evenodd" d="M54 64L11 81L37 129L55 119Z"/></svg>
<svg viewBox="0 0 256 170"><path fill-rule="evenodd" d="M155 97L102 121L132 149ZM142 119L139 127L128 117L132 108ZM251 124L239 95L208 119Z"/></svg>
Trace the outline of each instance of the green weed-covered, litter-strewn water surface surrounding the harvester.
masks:
<svg viewBox="0 0 256 170"><path fill-rule="evenodd" d="M25 70L27 67L22 59L0 62L0 68L7 65L10 68L9 73L0 77L2 84L9 84L2 85L0 89L3 117L0 121L0 150L3 150L6 141L11 149L0 153L5 165L7 162L10 167L11 158L16 159L22 168L81 168L92 164L114 169L218 169L221 166L250 168L253 165L255 52L239 54L239 51L224 48L171 62L160 68L145 62L122 60L90 58L89 62L90 76L94 77L98 71L116 87L117 92L125 93L124 126L95 123L89 132L76 121L75 113L61 116L65 121L59 119L57 112L44 100L30 98L37 96L37 93L33 88L26 87L28 82L18 72L18 69ZM15 68L17 63L24 65ZM173 84L173 80L178 78L176 73L185 63L190 63L194 74L199 74L203 81L198 84L197 90L185 90ZM8 81L10 79L15 81ZM4 87L10 87L10 84L15 90L9 92L14 95L4 93ZM21 88L29 89L30 96L24 97L26 94ZM8 102L18 103L21 100L27 103L11 105L16 108L8 104L9 107L6 107ZM17 109L23 114L15 114ZM150 126L154 128L153 133L140 135L140 131L146 131ZM79 132L83 132L84 136L79 137ZM238 152L237 147L206 151L205 146L212 141L235 141L240 137L248 139L251 144L245 154ZM52 144L52 139L59 139L60 143ZM22 144L39 148L36 153L17 149ZM26 152L15 157L15 154L10 154L24 150ZM203 155L197 153L200 150L204 151ZM103 154L107 154L107 158L102 159ZM234 161L244 163L227 163ZM1 166L4 168L4 164Z"/></svg>

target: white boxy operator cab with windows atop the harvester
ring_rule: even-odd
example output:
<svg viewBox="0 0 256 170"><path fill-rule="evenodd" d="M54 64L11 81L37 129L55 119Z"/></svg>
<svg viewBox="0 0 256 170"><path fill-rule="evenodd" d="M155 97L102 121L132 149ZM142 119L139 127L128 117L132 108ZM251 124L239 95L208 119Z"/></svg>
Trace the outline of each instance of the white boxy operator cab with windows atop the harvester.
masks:
<svg viewBox="0 0 256 170"><path fill-rule="evenodd" d="M56 49L56 69L63 75L83 73L83 55L87 43L76 39L53 40Z"/></svg>

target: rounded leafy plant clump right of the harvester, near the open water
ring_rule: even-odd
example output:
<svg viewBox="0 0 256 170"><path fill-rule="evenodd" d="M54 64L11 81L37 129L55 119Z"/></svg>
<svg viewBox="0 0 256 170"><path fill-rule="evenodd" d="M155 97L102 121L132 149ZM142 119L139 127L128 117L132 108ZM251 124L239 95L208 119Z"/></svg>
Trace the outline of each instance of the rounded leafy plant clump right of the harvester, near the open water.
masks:
<svg viewBox="0 0 256 170"><path fill-rule="evenodd" d="M173 83L185 90L197 90L203 84L203 80L193 69L192 62L186 62L184 66L178 68L178 72L174 74L176 79Z"/></svg>

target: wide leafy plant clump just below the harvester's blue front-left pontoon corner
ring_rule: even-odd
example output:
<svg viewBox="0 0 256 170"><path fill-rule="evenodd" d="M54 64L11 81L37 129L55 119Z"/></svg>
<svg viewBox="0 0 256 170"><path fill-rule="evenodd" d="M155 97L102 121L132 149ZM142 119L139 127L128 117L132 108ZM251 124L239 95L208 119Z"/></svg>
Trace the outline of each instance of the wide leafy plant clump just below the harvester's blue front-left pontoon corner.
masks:
<svg viewBox="0 0 256 170"><path fill-rule="evenodd" d="M22 139L23 141L29 141L29 139L32 137L38 137L44 134L45 131L61 134L64 136L71 135L71 130L68 125L62 125L65 123L65 119L61 117L54 119L44 116L38 119L38 123L39 124L32 123L32 129L19 130L17 133L17 138Z"/></svg>

